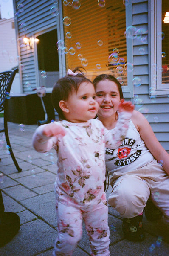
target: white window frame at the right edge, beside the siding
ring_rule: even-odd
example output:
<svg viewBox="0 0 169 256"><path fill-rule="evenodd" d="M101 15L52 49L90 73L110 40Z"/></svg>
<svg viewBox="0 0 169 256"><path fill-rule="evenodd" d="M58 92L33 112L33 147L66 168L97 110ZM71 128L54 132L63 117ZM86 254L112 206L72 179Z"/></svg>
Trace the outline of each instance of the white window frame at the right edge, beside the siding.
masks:
<svg viewBox="0 0 169 256"><path fill-rule="evenodd" d="M169 84L162 84L161 2L149 0L149 96L169 94Z"/></svg>

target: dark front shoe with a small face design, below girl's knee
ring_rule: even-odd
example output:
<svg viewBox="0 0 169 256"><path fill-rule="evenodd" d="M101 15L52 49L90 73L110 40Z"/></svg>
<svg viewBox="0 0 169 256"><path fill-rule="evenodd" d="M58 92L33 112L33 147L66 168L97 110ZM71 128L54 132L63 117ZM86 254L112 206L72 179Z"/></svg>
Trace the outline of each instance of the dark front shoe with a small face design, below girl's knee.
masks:
<svg viewBox="0 0 169 256"><path fill-rule="evenodd" d="M141 242L145 239L145 233L142 228L142 215L134 218L123 218L123 233L126 239L135 242Z"/></svg>

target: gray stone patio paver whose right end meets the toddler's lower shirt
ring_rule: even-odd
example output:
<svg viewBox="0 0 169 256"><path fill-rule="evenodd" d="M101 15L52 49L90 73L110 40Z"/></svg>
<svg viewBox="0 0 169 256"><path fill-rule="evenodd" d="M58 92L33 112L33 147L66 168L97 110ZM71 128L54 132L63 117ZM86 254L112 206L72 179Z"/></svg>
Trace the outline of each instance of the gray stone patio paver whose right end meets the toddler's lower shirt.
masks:
<svg viewBox="0 0 169 256"><path fill-rule="evenodd" d="M17 178L16 180L19 183L26 186L27 188L32 189L35 187L44 186L51 183L54 184L56 180L56 175L48 171L40 173L35 172L35 175Z"/></svg>

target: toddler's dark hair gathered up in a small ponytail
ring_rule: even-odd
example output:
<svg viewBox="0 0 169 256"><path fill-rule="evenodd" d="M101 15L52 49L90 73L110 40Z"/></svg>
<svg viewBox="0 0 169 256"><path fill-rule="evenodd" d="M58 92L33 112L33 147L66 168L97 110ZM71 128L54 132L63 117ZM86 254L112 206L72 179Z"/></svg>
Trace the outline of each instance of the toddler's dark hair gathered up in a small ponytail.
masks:
<svg viewBox="0 0 169 256"><path fill-rule="evenodd" d="M59 102L61 100L66 101L71 93L74 91L77 92L79 85L82 82L90 82L90 79L87 79L82 72L81 69L84 69L83 67L76 67L73 72L79 71L76 76L72 75L66 75L62 78L60 78L56 84L54 84L53 90L52 90L52 104L57 111L59 115L60 120L64 120L65 116L61 108L59 107ZM84 69L85 70L85 69ZM78 106L77 106L78 107Z"/></svg>

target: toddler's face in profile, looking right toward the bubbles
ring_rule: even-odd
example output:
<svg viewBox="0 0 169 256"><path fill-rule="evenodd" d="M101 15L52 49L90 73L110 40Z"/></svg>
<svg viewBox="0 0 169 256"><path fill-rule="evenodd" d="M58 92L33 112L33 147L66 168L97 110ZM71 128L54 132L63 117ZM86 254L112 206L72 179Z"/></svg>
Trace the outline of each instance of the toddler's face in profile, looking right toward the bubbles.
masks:
<svg viewBox="0 0 169 256"><path fill-rule="evenodd" d="M70 122L87 122L93 119L99 108L95 95L93 84L82 82L77 93L73 92L65 101L68 108L68 113L65 113L66 119Z"/></svg>

